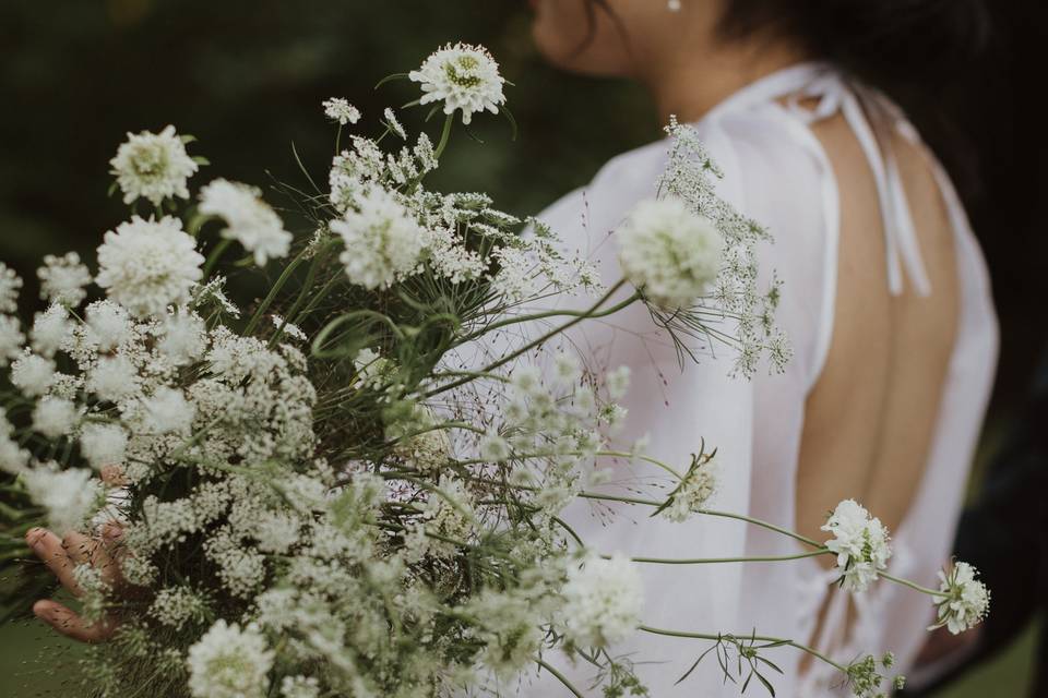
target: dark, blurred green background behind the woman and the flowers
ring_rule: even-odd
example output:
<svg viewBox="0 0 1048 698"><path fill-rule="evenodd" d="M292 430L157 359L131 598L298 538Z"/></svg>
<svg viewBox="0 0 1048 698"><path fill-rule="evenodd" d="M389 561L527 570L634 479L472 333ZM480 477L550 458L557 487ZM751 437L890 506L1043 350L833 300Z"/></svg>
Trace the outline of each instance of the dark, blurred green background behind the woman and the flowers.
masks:
<svg viewBox="0 0 1048 698"><path fill-rule="evenodd" d="M956 84L916 86L917 93L934 93L937 107L956 127L952 143L968 144L960 147L980 164L981 186L969 188L968 203L984 233L1003 330L991 432L1007 425L1046 334L1044 323L1029 322L1036 300L1048 296L1048 245L1033 204L1045 191L1038 179L1043 160L1020 156L1024 129L1039 127L1017 96L1027 81L1043 80L1034 60L1043 44L1029 35L1015 38L1014 32L1028 31L1022 8L1034 2L1024 2L997 9L1002 33L980 70L958 75ZM261 186L271 177L299 182L293 143L323 178L334 131L321 100L345 96L366 118L378 117L384 107L414 97L406 85L380 91L373 85L454 40L481 43L496 53L515 83L509 99L521 131L512 142L505 121L480 119L475 136L484 144L456 143L442 164L441 181L488 191L514 213L537 213L588 181L612 155L657 139L659 123L633 85L545 67L531 45L522 5L3 0L0 258L29 281L26 293L35 294L32 282L43 254L76 250L90 257L102 233L123 215L119 201L106 197L107 172L129 130L174 123L180 133L198 136L190 152L212 161L198 183L217 176ZM943 116L915 109L918 120ZM988 440L984 456L992 450ZM941 695L1025 695L1032 647L1027 633L995 664ZM62 695L57 689L75 676L75 648L35 625L0 627L0 698Z"/></svg>

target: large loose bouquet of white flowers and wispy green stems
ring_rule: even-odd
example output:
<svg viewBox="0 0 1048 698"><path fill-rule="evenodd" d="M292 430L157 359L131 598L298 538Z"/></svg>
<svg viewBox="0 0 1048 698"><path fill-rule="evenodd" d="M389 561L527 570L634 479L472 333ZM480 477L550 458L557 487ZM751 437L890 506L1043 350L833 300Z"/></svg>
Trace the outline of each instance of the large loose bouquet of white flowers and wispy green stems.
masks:
<svg viewBox="0 0 1048 698"><path fill-rule="evenodd" d="M49 304L28 326L21 279L0 265L0 565L19 579L4 614L48 595L52 573L72 589L79 615L36 611L94 642L85 695L407 698L536 664L581 695L543 659L555 650L593 662L608 696L646 694L609 652L641 625L636 563L587 550L559 517L602 498L600 458L645 457L606 445L629 375L549 347L643 303L682 362L700 336L736 350L742 374L764 354L787 361L779 289L757 289L766 233L716 198L716 166L675 122L659 196L618 236L623 280L603 288L540 222L426 185L460 120L509 116L491 56L446 46L402 77L421 87L407 108L443 113L436 145L388 109L377 137L343 147L362 116L324 103L326 186L303 167L302 188L273 188L299 234L254 186L213 179L192 195L206 161L168 127L120 146L112 191L130 219L105 233L94 272L72 253L45 260ZM238 297L246 278L261 298ZM525 310L572 294L587 310ZM631 501L730 516L707 508L712 461L666 464L669 496ZM858 504L826 530L829 543L803 540L836 556L842 583L888 577L886 531ZM963 563L922 591L955 631L986 611ZM743 687L772 688L766 648L833 663L755 633L690 637ZM834 665L873 696L890 661Z"/></svg>

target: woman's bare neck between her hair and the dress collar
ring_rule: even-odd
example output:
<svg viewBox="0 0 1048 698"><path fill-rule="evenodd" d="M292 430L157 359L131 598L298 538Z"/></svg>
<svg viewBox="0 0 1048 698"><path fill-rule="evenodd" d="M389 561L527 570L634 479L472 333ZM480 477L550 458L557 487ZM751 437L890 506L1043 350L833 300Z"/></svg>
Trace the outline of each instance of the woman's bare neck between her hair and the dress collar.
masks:
<svg viewBox="0 0 1048 698"><path fill-rule="evenodd" d="M708 51L668 50L665 58L643 67L641 81L654 97L663 123L670 115L693 122L747 85L808 58L785 43L719 45Z"/></svg>

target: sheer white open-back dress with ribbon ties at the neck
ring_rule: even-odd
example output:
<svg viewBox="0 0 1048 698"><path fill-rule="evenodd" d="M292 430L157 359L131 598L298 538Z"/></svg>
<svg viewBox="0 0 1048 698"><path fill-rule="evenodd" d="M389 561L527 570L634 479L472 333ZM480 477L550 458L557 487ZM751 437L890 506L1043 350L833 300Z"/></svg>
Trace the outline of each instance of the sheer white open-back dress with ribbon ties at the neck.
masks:
<svg viewBox="0 0 1048 698"><path fill-rule="evenodd" d="M817 101L814 109L805 104ZM633 308L607 322L591 323L574 337L608 366L632 369L632 388L623 441L650 436L647 453L686 468L701 440L718 448L719 491L715 508L749 514L795 529L796 473L805 400L819 378L833 334L837 275L839 207L830 160L810 124L843 113L867 153L878 180L891 292L908 282L933 292L925 273L902 179L890 152L880 147L864 106L892 115L898 133L918 136L883 97L856 86L822 64L788 68L743 88L694 124L725 172L718 194L745 215L766 226L774 244L760 251L761 270L774 269L784 281L778 323L795 357L784 374L759 370L752 381L728 376L733 357L704 357L682 372L670 342L658 335L647 312ZM540 218L573 252L599 260L603 280L620 277L614 236L630 208L654 195L666 164L667 143L655 143L611 160L582 190L569 194ZM925 586L938 586L937 571L949 559L969 464L979 435L997 360L998 332L990 286L979 248L961 202L944 171L937 177L952 219L958 282L960 328L929 461L915 501L893 531L890 571ZM654 467L615 465L621 480L663 480ZM623 468L628 472L623 472ZM635 480L633 480L635 479ZM614 492L614 488L608 490ZM579 502L568 519L587 544L602 553L622 551L652 557L736 557L803 552L791 539L746 524L693 517L683 524L650 518L650 512L615 506L616 516ZM876 512L873 513L876 515ZM857 600L858 617L844 627L846 604L832 578L813 559L774 564L703 566L640 565L645 582L643 621L648 626L775 636L808 642L829 597L826 633L818 649L842 663L861 651L895 652L905 673L926 637L930 600L896 585L880 582ZM846 635L846 637L841 637ZM683 683L675 685L708 642L638 633L611 650L629 655L654 698L736 696L740 686L723 685L713 654ZM785 672L770 677L778 696L836 695L839 674L821 665L801 675L800 652L790 648L766 655ZM585 695L593 667L572 666L559 653L545 659ZM526 696L568 696L549 673L539 671L521 686ZM757 684L749 691L763 694Z"/></svg>

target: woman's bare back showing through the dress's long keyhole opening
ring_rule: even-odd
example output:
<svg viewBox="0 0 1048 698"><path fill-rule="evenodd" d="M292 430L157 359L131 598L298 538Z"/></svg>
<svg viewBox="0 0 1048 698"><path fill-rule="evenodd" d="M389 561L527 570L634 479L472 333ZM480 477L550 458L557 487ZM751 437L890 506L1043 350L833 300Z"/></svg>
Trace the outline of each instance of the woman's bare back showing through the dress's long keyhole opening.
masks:
<svg viewBox="0 0 1048 698"><path fill-rule="evenodd" d="M833 338L811 392L798 466L797 517L806 535L844 498L894 530L924 476L957 335L955 234L929 158L890 137L932 292L906 279L890 291L885 217L874 174L843 116L812 125L833 165L841 237Z"/></svg>

